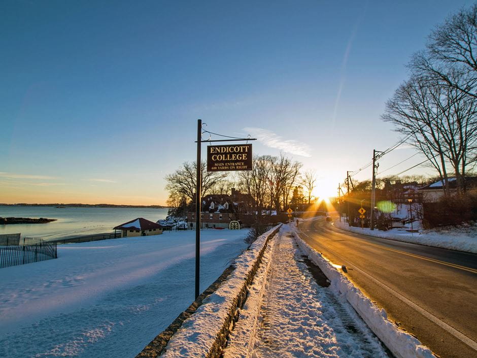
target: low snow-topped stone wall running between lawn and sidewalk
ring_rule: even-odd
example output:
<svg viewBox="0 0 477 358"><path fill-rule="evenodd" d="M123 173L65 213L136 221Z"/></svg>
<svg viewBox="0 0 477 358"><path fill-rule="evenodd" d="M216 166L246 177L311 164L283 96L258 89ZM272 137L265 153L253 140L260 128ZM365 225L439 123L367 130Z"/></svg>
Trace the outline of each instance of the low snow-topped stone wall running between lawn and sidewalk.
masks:
<svg viewBox="0 0 477 358"><path fill-rule="evenodd" d="M247 286L260 265L268 241L280 225L261 235L235 260L234 266L207 288L167 329L136 358L219 358L240 309L247 300Z"/></svg>

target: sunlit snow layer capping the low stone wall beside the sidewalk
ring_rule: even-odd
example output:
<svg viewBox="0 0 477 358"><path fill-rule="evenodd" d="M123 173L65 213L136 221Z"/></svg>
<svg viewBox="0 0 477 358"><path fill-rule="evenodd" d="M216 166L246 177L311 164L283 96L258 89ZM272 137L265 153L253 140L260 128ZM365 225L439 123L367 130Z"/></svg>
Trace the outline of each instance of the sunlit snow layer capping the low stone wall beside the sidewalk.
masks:
<svg viewBox="0 0 477 358"><path fill-rule="evenodd" d="M261 235L235 259L235 270L227 281L184 322L161 357L211 357L222 351L267 242L279 229L280 225Z"/></svg>

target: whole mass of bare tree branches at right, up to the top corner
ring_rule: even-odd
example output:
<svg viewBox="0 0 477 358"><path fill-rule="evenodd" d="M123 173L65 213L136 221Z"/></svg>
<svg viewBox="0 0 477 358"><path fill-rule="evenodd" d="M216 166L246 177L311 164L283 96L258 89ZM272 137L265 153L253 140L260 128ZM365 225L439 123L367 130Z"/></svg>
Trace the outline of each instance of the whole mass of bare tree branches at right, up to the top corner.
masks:
<svg viewBox="0 0 477 358"><path fill-rule="evenodd" d="M437 26L427 50L408 65L411 79L386 104L385 121L406 134L437 170L449 194L448 169L465 187L477 164L477 4Z"/></svg>

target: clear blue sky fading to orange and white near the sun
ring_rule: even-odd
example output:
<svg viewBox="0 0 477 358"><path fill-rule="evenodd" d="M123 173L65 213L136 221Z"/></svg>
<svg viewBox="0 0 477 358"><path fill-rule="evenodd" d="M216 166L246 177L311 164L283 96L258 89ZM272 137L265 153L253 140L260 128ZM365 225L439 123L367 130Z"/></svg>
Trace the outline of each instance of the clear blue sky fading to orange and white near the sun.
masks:
<svg viewBox="0 0 477 358"><path fill-rule="evenodd" d="M197 118L265 133L258 154L274 136L329 191L399 139L380 115L405 64L471 3L4 1L0 202L164 204Z"/></svg>

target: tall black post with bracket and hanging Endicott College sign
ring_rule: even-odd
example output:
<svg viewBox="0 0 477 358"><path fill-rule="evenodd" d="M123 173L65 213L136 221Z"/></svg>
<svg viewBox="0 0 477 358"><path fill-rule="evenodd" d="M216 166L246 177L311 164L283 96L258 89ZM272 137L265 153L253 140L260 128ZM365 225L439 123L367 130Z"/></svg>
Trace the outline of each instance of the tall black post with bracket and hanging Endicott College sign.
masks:
<svg viewBox="0 0 477 358"><path fill-rule="evenodd" d="M204 123L205 124L205 123ZM219 137L232 139L202 140L202 134L216 135ZM249 136L250 137L250 136ZM200 145L202 143L212 142L236 142L236 141L256 141L255 138L235 138L224 136L209 131L202 131L202 120L197 119L197 178L195 186L195 299L199 297L199 279L200 279L200 207L202 198L200 197L202 185L201 171L201 153ZM240 171L252 170L252 145L210 145L207 147L207 171Z"/></svg>

